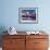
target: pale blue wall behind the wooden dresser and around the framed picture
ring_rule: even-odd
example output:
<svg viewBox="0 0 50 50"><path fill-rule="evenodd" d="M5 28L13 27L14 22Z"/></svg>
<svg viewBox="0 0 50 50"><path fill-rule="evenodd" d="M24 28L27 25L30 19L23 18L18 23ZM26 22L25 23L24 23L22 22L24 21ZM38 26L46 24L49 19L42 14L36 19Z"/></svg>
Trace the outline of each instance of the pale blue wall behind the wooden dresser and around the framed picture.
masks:
<svg viewBox="0 0 50 50"><path fill-rule="evenodd" d="M50 35L50 0L0 0L0 29L46 30ZM38 8L38 24L18 24L18 8Z"/></svg>

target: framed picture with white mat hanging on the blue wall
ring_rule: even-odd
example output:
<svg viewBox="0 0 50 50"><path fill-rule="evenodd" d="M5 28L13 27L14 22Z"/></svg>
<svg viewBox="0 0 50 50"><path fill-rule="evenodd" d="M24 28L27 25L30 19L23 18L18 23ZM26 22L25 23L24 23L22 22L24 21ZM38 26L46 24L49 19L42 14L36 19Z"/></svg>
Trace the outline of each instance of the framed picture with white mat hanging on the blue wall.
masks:
<svg viewBox="0 0 50 50"><path fill-rule="evenodd" d="M18 22L25 24L38 23L38 9L37 8L20 8Z"/></svg>

